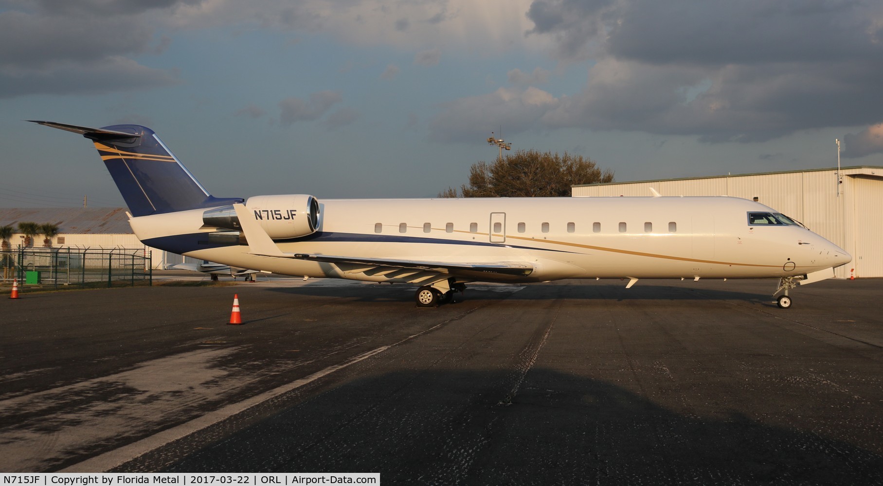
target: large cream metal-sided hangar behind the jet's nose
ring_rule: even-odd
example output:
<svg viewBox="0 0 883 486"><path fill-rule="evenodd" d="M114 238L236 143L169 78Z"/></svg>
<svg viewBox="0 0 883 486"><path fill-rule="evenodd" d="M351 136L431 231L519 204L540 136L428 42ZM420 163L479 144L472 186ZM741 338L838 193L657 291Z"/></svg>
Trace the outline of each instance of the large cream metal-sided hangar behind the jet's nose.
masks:
<svg viewBox="0 0 883 486"><path fill-rule="evenodd" d="M580 184L574 197L733 196L756 200L801 221L847 250L838 278L883 277L883 167L856 166L728 176Z"/></svg>

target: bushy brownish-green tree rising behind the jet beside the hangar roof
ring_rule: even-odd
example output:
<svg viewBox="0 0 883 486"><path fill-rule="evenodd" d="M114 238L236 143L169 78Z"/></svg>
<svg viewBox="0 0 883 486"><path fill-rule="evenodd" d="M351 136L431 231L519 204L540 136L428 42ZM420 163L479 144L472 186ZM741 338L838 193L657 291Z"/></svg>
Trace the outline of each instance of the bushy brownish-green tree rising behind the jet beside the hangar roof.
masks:
<svg viewBox="0 0 883 486"><path fill-rule="evenodd" d="M469 169L469 184L460 186L464 198L541 198L570 196L570 186L611 183L613 171L601 170L591 159L570 153L519 150L488 164L479 161ZM439 198L456 198L449 187Z"/></svg>

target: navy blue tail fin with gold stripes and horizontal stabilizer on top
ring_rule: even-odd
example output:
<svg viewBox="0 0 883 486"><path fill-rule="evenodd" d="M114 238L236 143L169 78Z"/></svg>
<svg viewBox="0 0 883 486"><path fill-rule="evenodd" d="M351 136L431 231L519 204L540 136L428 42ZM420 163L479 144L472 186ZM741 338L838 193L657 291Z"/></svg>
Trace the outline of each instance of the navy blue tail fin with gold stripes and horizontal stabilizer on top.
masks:
<svg viewBox="0 0 883 486"><path fill-rule="evenodd" d="M177 160L154 131L141 125L89 128L28 120L91 139L133 216L241 203L215 198Z"/></svg>

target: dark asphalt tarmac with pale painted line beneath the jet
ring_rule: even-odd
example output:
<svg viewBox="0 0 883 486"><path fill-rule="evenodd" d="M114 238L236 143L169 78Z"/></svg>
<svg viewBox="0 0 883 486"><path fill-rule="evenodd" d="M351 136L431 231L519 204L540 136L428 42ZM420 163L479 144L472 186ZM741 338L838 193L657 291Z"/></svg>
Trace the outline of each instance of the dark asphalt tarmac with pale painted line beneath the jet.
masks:
<svg viewBox="0 0 883 486"><path fill-rule="evenodd" d="M883 280L626 283L24 288L0 471L883 484Z"/></svg>

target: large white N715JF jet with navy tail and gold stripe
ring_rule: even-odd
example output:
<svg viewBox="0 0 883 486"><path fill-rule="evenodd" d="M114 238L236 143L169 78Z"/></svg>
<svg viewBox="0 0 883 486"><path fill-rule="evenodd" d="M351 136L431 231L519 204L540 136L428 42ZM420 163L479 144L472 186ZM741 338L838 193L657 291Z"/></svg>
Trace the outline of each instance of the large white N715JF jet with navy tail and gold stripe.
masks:
<svg viewBox="0 0 883 486"><path fill-rule="evenodd" d="M408 283L417 305L472 281L834 276L851 257L773 208L742 198L215 198L140 125L35 121L94 142L154 248L286 275Z"/></svg>

